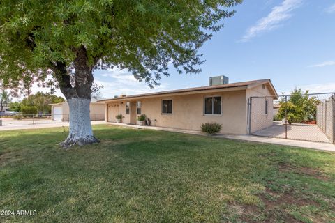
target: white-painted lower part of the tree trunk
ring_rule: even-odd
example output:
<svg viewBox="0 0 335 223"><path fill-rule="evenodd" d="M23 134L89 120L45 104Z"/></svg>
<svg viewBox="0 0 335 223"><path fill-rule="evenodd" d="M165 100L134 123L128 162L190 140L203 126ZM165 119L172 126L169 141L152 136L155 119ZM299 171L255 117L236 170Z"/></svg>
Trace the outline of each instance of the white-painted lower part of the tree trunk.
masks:
<svg viewBox="0 0 335 223"><path fill-rule="evenodd" d="M68 99L70 128L68 137L60 144L64 148L98 142L91 128L91 118L89 117L90 102L91 100L87 98Z"/></svg>

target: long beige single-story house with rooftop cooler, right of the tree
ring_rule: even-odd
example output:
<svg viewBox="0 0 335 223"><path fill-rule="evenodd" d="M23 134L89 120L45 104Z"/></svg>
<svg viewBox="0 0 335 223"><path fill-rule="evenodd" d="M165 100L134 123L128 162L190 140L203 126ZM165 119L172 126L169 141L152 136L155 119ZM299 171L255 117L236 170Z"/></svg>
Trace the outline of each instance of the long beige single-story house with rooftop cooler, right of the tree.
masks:
<svg viewBox="0 0 335 223"><path fill-rule="evenodd" d="M254 100L252 112L257 118L252 122L260 118L262 123L251 125L251 131L255 131L273 124L273 100L278 95L270 79L128 95L99 102L105 102L107 122L116 122L115 116L121 114L122 123L136 124L137 116L145 114L151 125L159 127L200 130L202 123L216 121L223 125L221 133L248 134L248 99L264 96L269 97Z"/></svg>

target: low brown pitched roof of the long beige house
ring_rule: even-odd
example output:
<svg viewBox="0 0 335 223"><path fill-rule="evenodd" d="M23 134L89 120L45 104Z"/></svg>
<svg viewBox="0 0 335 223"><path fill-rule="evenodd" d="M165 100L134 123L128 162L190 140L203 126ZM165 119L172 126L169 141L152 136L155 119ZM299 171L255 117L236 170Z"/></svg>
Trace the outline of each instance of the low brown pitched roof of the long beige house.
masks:
<svg viewBox="0 0 335 223"><path fill-rule="evenodd" d="M172 90L172 91L160 91L160 92L154 92L154 93L142 93L138 95L127 95L125 97L119 97L119 98L110 98L110 99L104 99L104 100L98 100L98 102L103 101L110 101L110 100L124 100L124 99L132 99L132 98L141 98L141 97L147 97L147 96L154 96L154 95L166 95L166 94L172 94L172 93L188 93L188 92L196 92L196 91L209 91L209 90L216 90L216 89L232 89L234 91L234 88L239 87L246 87L246 89L252 88L254 86L258 86L259 84L266 84L269 83L271 86L271 89L273 89L273 96L277 97L278 94L276 93L276 90L274 89L274 86L271 83L270 79L258 79L248 82L236 82L231 84L220 84L220 85L214 85L214 86L200 86L195 88L189 88L189 89L178 89L178 90Z"/></svg>

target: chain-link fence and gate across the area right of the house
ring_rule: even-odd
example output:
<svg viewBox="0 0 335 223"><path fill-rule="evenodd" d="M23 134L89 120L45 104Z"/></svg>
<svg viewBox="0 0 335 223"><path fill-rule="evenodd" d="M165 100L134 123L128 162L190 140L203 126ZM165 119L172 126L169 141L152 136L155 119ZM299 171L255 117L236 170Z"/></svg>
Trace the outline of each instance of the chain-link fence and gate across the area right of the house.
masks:
<svg viewBox="0 0 335 223"><path fill-rule="evenodd" d="M335 93L248 98L248 134L335 144Z"/></svg>

